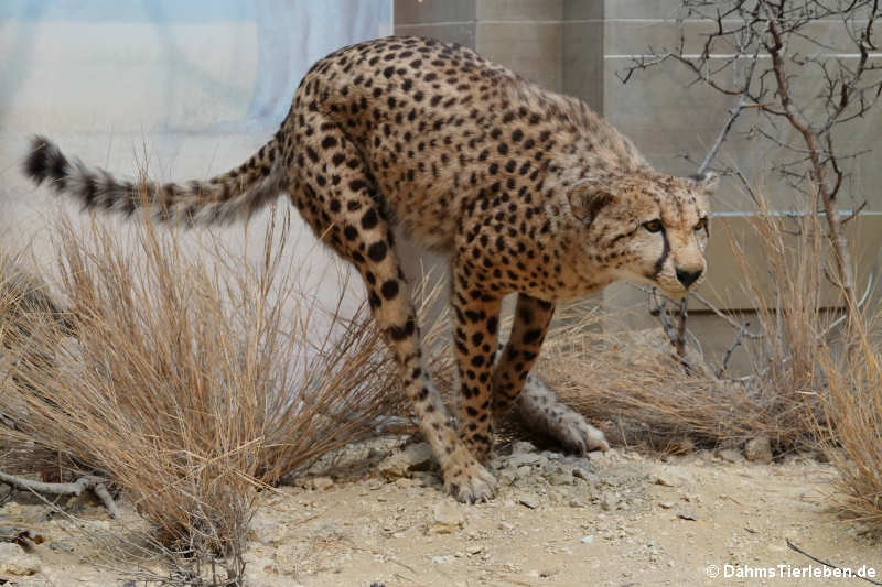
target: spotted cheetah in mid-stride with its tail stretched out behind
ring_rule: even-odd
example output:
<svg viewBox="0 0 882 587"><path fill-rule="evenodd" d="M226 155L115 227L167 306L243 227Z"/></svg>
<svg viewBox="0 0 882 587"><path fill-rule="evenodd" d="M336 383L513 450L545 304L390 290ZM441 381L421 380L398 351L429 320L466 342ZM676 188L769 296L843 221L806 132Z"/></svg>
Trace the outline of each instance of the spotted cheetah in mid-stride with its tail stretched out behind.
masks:
<svg viewBox="0 0 882 587"><path fill-rule="evenodd" d="M493 497L493 420L513 405L571 448L607 448L529 376L555 304L620 279L686 295L706 272L718 183L655 171L584 102L469 48L397 36L315 63L272 139L211 180L118 181L42 137L23 170L85 208L130 216L147 206L185 226L247 219L286 194L364 279L444 488L463 502ZM459 425L426 369L396 225L450 259ZM512 293L514 325L498 348Z"/></svg>

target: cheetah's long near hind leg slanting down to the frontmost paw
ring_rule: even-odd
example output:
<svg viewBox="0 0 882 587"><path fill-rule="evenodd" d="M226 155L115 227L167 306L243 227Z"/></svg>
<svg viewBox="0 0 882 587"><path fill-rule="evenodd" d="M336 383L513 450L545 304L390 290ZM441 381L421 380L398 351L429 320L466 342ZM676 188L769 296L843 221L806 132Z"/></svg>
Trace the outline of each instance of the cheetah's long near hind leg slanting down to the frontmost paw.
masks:
<svg viewBox="0 0 882 587"><path fill-rule="evenodd" d="M413 303L379 204L383 196L359 153L336 127L315 123L313 128L319 132L313 133L312 152L321 144L327 151L327 160L320 160L321 167L316 161L310 167L313 173L299 170L299 181L292 183L302 189L294 194L294 202L313 230L364 278L374 319L392 351L406 394L440 461L447 491L463 502L487 500L493 497L496 481L460 439L423 363Z"/></svg>

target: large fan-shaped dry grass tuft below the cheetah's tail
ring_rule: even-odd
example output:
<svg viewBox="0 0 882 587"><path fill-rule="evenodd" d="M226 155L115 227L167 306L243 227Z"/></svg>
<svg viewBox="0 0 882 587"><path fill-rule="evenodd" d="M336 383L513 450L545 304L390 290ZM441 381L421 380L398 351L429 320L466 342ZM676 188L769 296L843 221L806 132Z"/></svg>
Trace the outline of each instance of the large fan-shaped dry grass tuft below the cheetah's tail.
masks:
<svg viewBox="0 0 882 587"><path fill-rule="evenodd" d="M162 544L223 555L235 579L255 488L370 434L396 371L364 311L346 319L297 290L287 219L273 216L257 267L216 241L187 254L149 221L131 230L135 247L104 225L61 222L76 336L58 343L52 327L9 345L53 352L6 361L0 412L20 428L7 456L28 457L18 470L107 476Z"/></svg>

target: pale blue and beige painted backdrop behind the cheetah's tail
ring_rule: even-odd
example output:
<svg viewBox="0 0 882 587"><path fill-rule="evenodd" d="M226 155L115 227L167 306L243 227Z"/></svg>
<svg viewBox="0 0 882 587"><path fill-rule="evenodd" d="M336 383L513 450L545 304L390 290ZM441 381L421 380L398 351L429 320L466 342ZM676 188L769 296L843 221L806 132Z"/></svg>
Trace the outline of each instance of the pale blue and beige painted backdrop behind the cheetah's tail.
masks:
<svg viewBox="0 0 882 587"><path fill-rule="evenodd" d="M146 164L160 181L207 177L272 135L313 62L390 32L390 0L2 0L0 246L51 264L57 204L18 171L31 134L120 176ZM240 226L219 231L245 246ZM304 285L333 300L329 253L299 217L293 231Z"/></svg>

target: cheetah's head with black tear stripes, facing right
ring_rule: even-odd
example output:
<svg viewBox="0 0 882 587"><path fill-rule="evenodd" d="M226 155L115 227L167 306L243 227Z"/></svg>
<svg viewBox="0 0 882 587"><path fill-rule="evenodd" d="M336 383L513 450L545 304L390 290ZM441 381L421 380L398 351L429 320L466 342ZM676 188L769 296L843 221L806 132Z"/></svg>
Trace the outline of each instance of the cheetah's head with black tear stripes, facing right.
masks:
<svg viewBox="0 0 882 587"><path fill-rule="evenodd" d="M682 297L707 270L709 196L719 180L709 174L674 177L628 174L584 178L569 192L581 222L584 253L612 280L647 283Z"/></svg>

